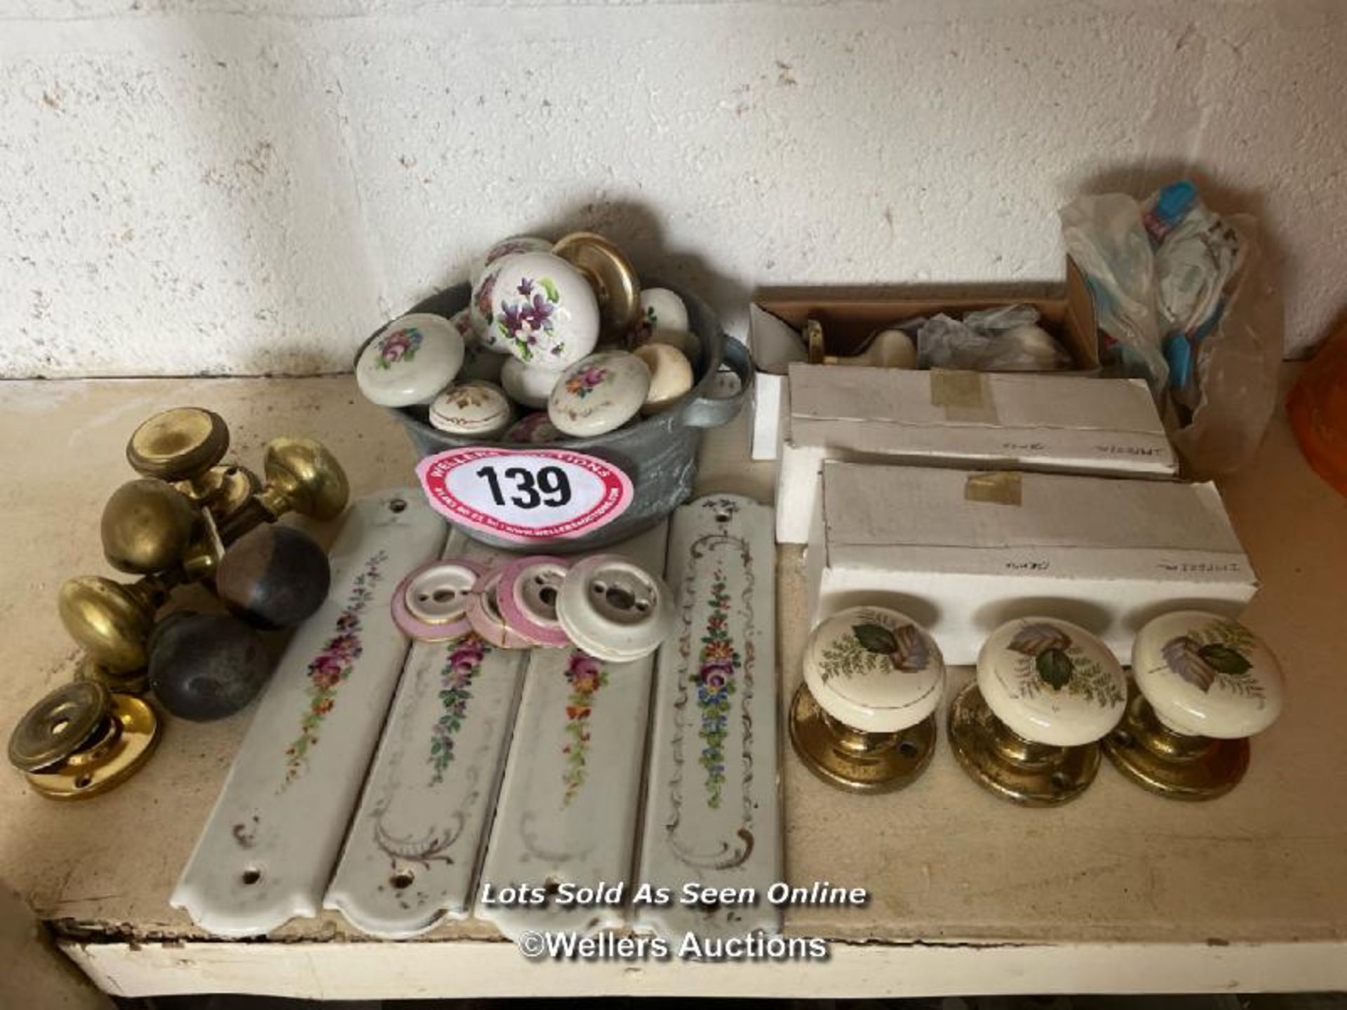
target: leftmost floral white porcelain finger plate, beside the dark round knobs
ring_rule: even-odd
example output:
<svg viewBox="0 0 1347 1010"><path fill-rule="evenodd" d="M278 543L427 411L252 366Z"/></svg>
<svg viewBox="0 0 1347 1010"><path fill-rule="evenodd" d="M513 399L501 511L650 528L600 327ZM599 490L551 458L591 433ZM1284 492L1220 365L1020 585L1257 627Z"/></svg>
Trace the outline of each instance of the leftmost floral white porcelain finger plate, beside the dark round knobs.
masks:
<svg viewBox="0 0 1347 1010"><path fill-rule="evenodd" d="M201 928L261 936L318 914L407 657L392 594L445 535L412 487L348 509L329 597L277 661L170 898Z"/></svg>

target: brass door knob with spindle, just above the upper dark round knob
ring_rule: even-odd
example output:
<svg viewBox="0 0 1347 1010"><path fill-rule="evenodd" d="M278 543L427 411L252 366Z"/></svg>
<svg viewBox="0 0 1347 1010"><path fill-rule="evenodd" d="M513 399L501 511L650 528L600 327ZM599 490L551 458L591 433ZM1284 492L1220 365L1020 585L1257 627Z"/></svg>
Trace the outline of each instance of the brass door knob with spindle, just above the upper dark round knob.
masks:
<svg viewBox="0 0 1347 1010"><path fill-rule="evenodd" d="M350 500L350 483L337 457L314 439L276 438L263 459L267 486L220 525L232 544L259 523L275 523L287 512L311 518L335 518Z"/></svg>

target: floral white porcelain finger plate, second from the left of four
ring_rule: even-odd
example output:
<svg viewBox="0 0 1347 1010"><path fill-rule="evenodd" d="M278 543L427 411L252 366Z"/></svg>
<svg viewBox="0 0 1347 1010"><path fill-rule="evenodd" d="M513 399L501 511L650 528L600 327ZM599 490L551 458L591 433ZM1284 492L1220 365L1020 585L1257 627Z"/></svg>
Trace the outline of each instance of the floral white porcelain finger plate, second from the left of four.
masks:
<svg viewBox="0 0 1347 1010"><path fill-rule="evenodd" d="M502 560L458 529L445 545L454 567ZM412 645L323 908L387 939L467 914L527 661L470 633Z"/></svg>

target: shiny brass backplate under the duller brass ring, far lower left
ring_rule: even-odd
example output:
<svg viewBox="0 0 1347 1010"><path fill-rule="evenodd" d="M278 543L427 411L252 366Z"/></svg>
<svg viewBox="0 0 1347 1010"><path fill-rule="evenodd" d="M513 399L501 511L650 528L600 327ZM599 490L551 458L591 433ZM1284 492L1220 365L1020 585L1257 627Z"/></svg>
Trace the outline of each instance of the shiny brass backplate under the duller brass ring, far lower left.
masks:
<svg viewBox="0 0 1347 1010"><path fill-rule="evenodd" d="M92 681L81 680L77 684ZM100 796L133 776L159 743L162 725L148 703L131 695L112 695L105 731L57 768L28 772L28 784L51 800Z"/></svg>

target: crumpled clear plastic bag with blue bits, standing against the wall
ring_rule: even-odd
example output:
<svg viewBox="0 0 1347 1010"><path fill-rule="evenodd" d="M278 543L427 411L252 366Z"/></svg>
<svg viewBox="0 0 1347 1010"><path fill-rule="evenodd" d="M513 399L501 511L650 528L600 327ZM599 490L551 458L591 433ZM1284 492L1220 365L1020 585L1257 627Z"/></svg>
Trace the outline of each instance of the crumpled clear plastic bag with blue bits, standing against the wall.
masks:
<svg viewBox="0 0 1347 1010"><path fill-rule="evenodd" d="M1095 299L1105 374L1150 384L1187 477L1242 466L1272 417L1284 346L1257 221L1212 214L1176 183L1146 202L1082 197L1061 233Z"/></svg>

